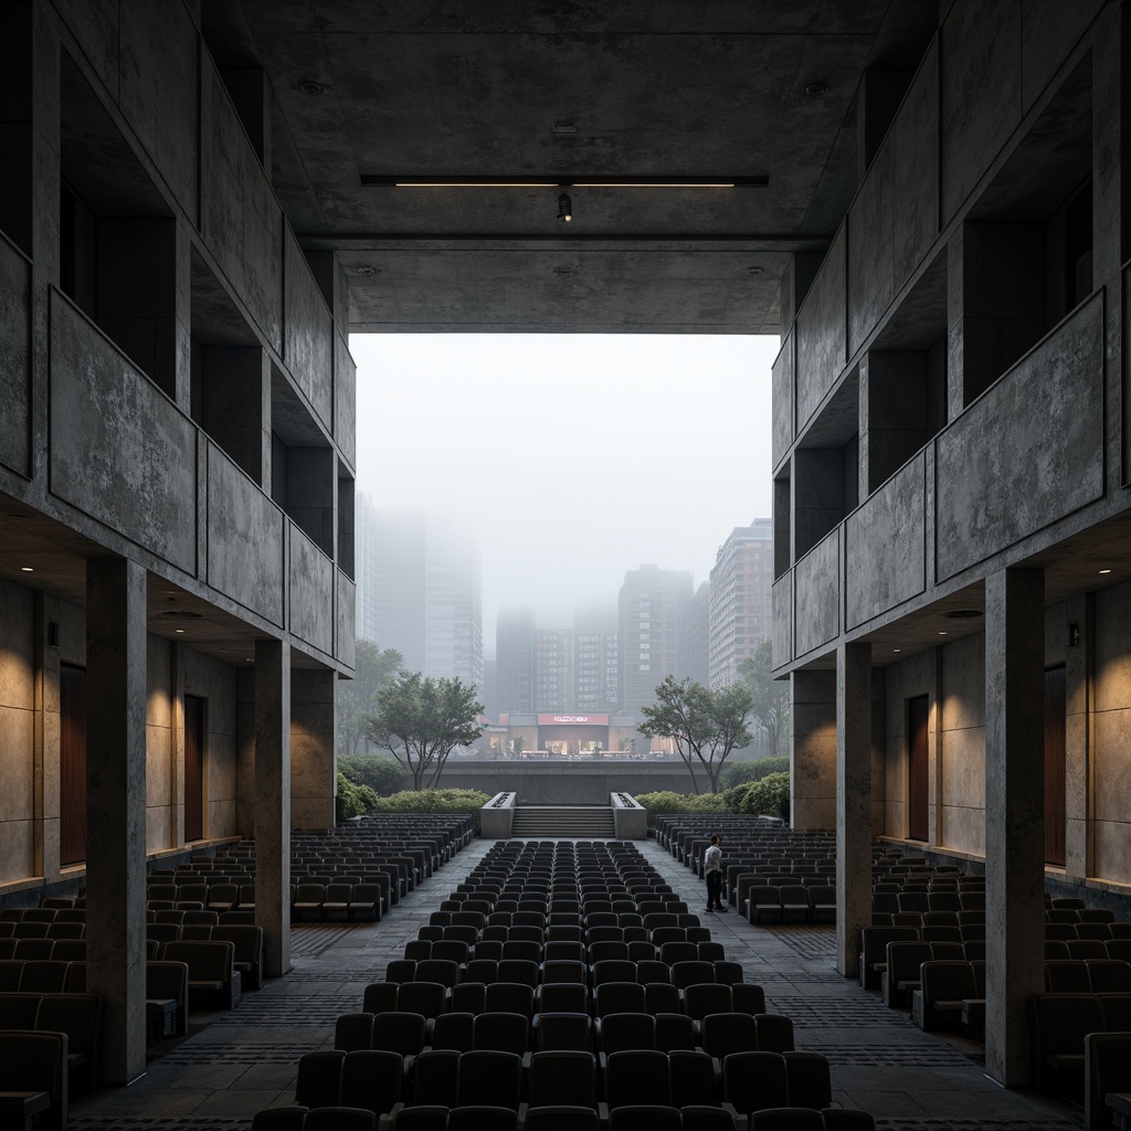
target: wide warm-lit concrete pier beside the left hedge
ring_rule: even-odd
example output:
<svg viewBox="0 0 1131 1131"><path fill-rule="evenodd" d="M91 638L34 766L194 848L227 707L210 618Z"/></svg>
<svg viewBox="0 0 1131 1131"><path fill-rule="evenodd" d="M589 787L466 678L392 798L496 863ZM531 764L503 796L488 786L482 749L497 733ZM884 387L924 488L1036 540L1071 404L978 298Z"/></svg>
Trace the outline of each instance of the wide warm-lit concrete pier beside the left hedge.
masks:
<svg viewBox="0 0 1131 1131"><path fill-rule="evenodd" d="M325 668L291 674L291 826L295 829L334 828L336 688L337 675Z"/></svg>

